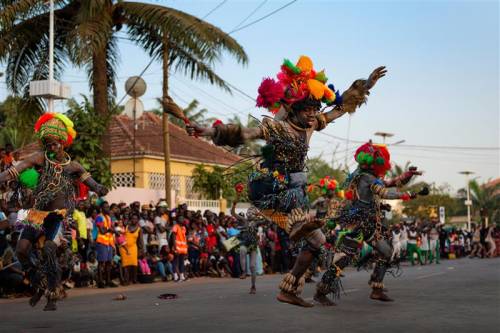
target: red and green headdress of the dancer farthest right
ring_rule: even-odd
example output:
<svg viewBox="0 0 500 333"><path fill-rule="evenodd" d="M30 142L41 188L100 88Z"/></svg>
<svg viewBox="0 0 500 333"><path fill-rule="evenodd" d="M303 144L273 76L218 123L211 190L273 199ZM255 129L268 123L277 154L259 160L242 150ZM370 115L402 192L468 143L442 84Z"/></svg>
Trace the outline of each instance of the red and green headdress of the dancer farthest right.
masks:
<svg viewBox="0 0 500 333"><path fill-rule="evenodd" d="M386 145L367 142L356 150L354 158L361 169L373 170L380 177L391 169L391 155Z"/></svg>

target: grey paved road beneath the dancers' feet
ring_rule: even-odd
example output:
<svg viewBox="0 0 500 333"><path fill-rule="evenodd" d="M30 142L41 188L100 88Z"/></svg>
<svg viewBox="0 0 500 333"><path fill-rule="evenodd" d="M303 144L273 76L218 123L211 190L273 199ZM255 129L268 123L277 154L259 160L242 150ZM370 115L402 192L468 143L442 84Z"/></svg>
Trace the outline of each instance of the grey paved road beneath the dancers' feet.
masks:
<svg viewBox="0 0 500 333"><path fill-rule="evenodd" d="M71 290L56 312L26 299L0 301L0 332L498 332L500 259L461 259L403 267L388 277L395 303L368 299L368 272L347 272L335 307L297 308L275 301L279 275L249 280L196 279L132 288ZM125 301L112 298L123 292ZM161 293L176 300L159 300ZM304 296L312 298L314 285Z"/></svg>

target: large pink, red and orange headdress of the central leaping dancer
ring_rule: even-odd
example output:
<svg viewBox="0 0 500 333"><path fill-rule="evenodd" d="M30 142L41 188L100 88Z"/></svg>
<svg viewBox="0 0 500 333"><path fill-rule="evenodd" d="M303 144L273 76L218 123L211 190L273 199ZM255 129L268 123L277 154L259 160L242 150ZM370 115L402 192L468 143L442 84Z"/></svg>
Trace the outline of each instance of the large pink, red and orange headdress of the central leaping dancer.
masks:
<svg viewBox="0 0 500 333"><path fill-rule="evenodd" d="M257 106L265 107L273 114L278 113L283 104L291 105L306 98L328 105L341 99L333 85L326 85L328 78L324 70L316 72L307 56L301 56L295 65L285 59L276 77L277 80L265 78L262 81L257 97Z"/></svg>

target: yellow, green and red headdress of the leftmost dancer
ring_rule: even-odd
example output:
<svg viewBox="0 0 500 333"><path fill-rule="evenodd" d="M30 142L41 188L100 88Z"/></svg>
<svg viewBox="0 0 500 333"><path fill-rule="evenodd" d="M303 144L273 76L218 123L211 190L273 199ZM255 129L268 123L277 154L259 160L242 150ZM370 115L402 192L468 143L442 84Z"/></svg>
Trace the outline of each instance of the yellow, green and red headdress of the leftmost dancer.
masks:
<svg viewBox="0 0 500 333"><path fill-rule="evenodd" d="M53 138L69 147L76 137L73 122L61 113L45 113L35 123L35 133L40 140Z"/></svg>

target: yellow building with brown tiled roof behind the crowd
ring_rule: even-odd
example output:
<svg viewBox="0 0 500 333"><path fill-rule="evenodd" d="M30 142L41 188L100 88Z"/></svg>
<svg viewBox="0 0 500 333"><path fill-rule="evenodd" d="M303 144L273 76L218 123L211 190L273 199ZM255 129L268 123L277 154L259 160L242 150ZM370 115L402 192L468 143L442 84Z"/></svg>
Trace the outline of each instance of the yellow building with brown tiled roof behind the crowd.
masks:
<svg viewBox="0 0 500 333"><path fill-rule="evenodd" d="M135 143L131 118L116 116L110 124L109 149L115 188L107 198L112 202L149 203L165 197L162 120L145 112L136 123ZM171 189L175 203L200 198L193 192L192 173L197 165L224 167L240 159L203 139L188 136L184 129L174 124L170 124L169 132Z"/></svg>

